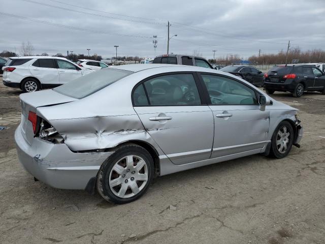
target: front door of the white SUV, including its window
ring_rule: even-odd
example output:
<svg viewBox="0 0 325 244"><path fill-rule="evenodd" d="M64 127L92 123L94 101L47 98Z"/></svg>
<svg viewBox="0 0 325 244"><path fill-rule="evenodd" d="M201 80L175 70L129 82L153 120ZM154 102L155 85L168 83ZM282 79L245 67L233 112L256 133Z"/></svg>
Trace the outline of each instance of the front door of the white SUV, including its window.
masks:
<svg viewBox="0 0 325 244"><path fill-rule="evenodd" d="M81 69L62 59L55 59L59 71L59 83L65 84L82 76Z"/></svg>

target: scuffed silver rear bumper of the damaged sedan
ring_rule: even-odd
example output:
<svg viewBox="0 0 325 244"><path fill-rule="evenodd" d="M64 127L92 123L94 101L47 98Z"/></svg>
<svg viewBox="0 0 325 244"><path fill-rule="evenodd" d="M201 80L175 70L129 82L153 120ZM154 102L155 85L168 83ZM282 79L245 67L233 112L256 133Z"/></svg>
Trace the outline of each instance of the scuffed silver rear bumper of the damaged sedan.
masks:
<svg viewBox="0 0 325 244"><path fill-rule="evenodd" d="M34 138L30 145L20 125L15 132L15 142L19 162L25 170L45 184L60 189L84 190L112 154L73 153L64 143L53 144L39 138Z"/></svg>

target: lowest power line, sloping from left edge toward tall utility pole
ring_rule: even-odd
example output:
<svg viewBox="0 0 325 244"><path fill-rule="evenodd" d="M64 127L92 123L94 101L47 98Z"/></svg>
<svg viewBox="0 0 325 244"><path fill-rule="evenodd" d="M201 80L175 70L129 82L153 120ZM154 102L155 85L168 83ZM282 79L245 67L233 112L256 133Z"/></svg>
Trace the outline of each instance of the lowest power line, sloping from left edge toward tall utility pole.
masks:
<svg viewBox="0 0 325 244"><path fill-rule="evenodd" d="M3 13L3 12L0 12L0 14L7 15L7 16L10 16L10 17L14 17L14 18L34 21L34 22L38 22L38 23L42 23L42 24L49 24L49 25L54 25L54 26L58 26L58 27L68 28L68 29L75 29L77 31L99 33L99 34L106 34L106 35L115 35L115 36L122 36L122 37L136 37L136 38L149 38L149 39L152 39L152 37L146 37L146 36L136 36L136 35L128 35L128 34L120 34L120 33L108 33L108 32L102 32L102 31L95 31L93 29L85 29L85 28L80 28L80 27L75 27L75 26L56 24L56 23L51 23L51 22L47 22L47 21L44 21L44 20L32 19L32 18L27 18L27 17L14 15L14 14ZM159 37L157 37L157 38L159 38Z"/></svg>

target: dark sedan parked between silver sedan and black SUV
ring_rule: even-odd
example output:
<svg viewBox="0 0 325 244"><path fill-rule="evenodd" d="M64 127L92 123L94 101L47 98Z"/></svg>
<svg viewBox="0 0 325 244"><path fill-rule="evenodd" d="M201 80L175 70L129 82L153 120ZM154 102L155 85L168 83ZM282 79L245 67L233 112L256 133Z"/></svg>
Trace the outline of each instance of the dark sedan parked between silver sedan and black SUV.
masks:
<svg viewBox="0 0 325 244"><path fill-rule="evenodd" d="M255 86L263 85L263 73L254 67L244 65L229 65L221 68L220 71L237 75Z"/></svg>

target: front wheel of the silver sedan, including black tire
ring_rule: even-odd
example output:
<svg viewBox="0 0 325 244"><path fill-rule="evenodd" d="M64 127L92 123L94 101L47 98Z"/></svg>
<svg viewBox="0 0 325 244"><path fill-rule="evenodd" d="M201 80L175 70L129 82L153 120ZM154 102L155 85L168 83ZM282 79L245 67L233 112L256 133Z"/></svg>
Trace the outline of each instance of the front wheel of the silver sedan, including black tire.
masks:
<svg viewBox="0 0 325 244"><path fill-rule="evenodd" d="M294 138L294 129L291 124L288 121L282 121L273 133L270 156L277 159L287 156L294 144Z"/></svg>

